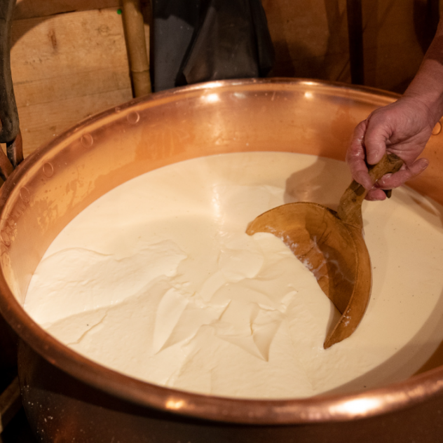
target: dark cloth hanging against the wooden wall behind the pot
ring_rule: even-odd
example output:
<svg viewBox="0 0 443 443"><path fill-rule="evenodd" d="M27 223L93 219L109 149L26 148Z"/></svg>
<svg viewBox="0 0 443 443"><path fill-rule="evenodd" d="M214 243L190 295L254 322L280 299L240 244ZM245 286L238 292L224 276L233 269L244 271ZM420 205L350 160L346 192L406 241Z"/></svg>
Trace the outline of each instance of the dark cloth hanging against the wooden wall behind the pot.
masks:
<svg viewBox="0 0 443 443"><path fill-rule="evenodd" d="M273 45L260 0L153 0L154 91L263 77Z"/></svg>

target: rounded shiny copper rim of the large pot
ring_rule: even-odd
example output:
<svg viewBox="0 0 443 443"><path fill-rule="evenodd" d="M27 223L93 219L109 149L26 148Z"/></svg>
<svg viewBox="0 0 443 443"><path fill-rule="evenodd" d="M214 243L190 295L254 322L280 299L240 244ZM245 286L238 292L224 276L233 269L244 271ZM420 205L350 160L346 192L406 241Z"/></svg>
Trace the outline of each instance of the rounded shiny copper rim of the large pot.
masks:
<svg viewBox="0 0 443 443"><path fill-rule="evenodd" d="M254 85L276 85L288 88L308 84L316 88L332 88L337 94L349 93L364 95L379 95L374 88L353 87L332 82L306 81L300 79L271 79L271 80L233 80L202 83L196 86L186 86L168 92L156 93L149 97L132 100L118 109L121 116L128 114L132 107L144 102L146 106L154 106L158 102L175 100L190 91L199 92L207 89L224 89L233 86L248 87ZM380 103L395 100L398 97L383 91ZM115 109L109 109L102 114L88 118L53 139L49 144L35 151L25 159L20 167L13 172L0 192L0 223L6 219L10 196L17 192L18 185L25 172L32 165L41 162L55 146L65 145L72 137L81 137L90 132L106 116L115 114ZM319 423L326 421L349 421L357 418L386 414L414 404L423 402L433 395L443 391L443 367L432 369L424 374L413 376L407 381L391 384L384 388L367 390L353 395L320 395L301 400L239 400L210 395L198 395L184 391L163 388L151 383L132 379L100 364L88 360L73 350L53 339L25 313L22 306L13 296L8 287L4 270L0 271L0 311L4 318L15 329L15 332L31 346L39 355L55 367L62 369L76 379L94 386L116 397L128 400L146 407L154 407L175 414L205 418L214 421L249 424L291 424Z"/></svg>

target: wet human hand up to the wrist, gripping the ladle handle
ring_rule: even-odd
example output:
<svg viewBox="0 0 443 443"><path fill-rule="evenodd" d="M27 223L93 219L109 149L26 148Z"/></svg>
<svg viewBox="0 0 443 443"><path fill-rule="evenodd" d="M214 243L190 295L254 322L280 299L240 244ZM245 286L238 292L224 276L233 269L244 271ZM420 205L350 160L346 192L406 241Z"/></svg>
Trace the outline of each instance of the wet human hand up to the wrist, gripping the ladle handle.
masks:
<svg viewBox="0 0 443 443"><path fill-rule="evenodd" d="M382 189L401 186L428 167L426 158L416 158L425 148L435 125L430 109L414 97L376 109L360 122L346 153L346 162L356 182L369 189L367 200L384 200ZM379 163L385 152L397 154L404 165L395 174L386 174L374 185L367 163Z"/></svg>

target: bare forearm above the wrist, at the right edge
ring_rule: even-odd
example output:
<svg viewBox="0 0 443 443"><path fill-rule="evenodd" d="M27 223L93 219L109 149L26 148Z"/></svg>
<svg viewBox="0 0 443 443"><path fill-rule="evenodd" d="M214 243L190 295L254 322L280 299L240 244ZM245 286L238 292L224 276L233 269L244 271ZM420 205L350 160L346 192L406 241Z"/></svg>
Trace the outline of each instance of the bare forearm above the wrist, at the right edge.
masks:
<svg viewBox="0 0 443 443"><path fill-rule="evenodd" d="M443 19L404 97L425 104L430 112L431 125L435 125L443 116Z"/></svg>

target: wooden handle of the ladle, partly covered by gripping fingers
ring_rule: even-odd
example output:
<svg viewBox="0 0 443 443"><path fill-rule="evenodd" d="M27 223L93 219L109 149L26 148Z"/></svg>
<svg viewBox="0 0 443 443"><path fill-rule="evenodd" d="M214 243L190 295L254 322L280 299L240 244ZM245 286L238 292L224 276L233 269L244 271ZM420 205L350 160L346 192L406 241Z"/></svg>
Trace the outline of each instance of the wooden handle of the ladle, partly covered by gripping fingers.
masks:
<svg viewBox="0 0 443 443"><path fill-rule="evenodd" d="M376 183L383 175L397 172L403 165L403 161L395 154L385 154L381 161L374 166L370 166L369 177ZM367 196L368 190L364 189L360 183L355 180L349 185L348 189L341 196L337 215L346 224L363 227L362 221L362 203Z"/></svg>

